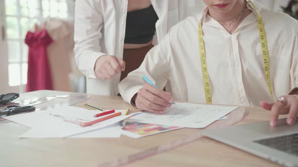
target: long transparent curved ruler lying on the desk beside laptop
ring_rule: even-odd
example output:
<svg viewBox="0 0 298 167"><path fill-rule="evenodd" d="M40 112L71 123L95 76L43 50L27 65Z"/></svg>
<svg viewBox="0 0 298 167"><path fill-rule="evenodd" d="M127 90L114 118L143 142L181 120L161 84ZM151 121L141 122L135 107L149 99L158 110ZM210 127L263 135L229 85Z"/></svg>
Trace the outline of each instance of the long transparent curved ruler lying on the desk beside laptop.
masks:
<svg viewBox="0 0 298 167"><path fill-rule="evenodd" d="M221 121L217 121L215 123L213 123L211 126L208 126L207 128L219 128L219 127L223 127L223 126L232 126L234 124L236 124L237 122L241 121L243 118L245 118L247 116L247 113L245 114L245 110L244 109L236 109L233 112L231 112L228 115L228 119L225 120L221 120ZM141 160L144 159L146 157L149 156L153 156L162 152L166 152L168 150L177 148L179 146L188 144L190 142L196 141L198 139L201 139L203 137L202 132L198 132L198 133L193 133L185 138L181 138L178 140L174 140L171 141L169 143L166 144L162 144L162 145L158 145L128 156L124 156L112 161L108 161L105 163L102 163L100 165L98 165L98 167L115 167L115 166L122 166L122 165L126 165L128 163L137 161L137 160Z"/></svg>

